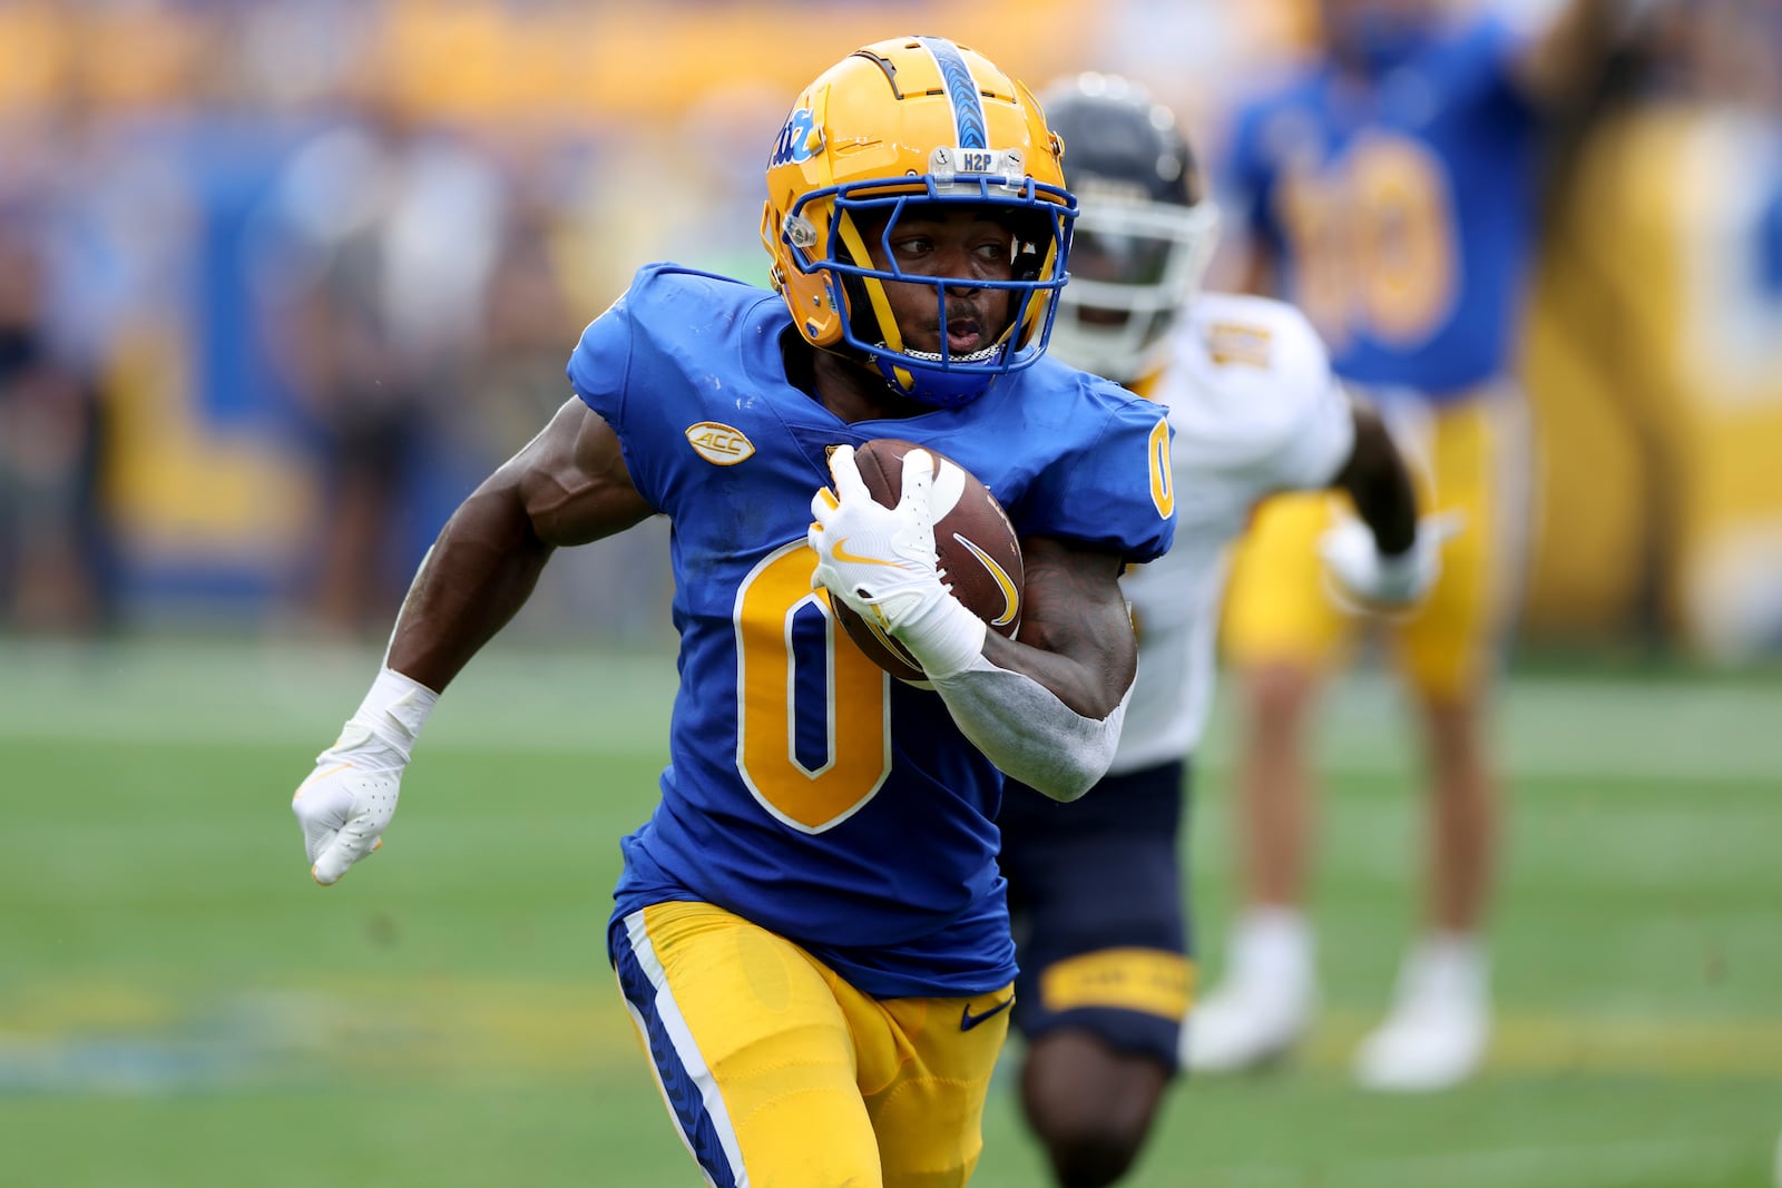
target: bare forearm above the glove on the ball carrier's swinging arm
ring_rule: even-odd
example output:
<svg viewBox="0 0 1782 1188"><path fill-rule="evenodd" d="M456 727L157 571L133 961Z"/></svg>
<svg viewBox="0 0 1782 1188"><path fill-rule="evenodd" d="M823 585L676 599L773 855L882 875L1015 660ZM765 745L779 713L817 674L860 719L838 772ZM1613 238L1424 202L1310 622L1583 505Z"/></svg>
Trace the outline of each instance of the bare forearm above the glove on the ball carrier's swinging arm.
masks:
<svg viewBox="0 0 1782 1188"><path fill-rule="evenodd" d="M444 691L526 606L551 552L497 474L453 513L421 563L385 664Z"/></svg>

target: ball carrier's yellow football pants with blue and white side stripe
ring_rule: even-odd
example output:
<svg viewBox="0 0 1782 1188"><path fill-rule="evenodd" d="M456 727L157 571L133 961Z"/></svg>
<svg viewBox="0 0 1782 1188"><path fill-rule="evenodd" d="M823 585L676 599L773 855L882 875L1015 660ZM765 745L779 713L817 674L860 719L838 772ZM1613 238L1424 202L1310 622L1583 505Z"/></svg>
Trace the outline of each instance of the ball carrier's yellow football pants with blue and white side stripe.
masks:
<svg viewBox="0 0 1782 1188"><path fill-rule="evenodd" d="M984 1147L1010 989L871 999L709 903L658 903L613 958L681 1138L720 1188L953 1188Z"/></svg>

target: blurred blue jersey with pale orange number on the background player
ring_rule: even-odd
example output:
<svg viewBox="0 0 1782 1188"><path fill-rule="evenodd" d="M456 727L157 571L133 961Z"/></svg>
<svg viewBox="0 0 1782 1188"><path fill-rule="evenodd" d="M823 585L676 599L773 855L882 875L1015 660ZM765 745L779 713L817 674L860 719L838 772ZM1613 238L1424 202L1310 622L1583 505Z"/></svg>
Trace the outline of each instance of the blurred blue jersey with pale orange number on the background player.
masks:
<svg viewBox="0 0 1782 1188"><path fill-rule="evenodd" d="M1345 379L1442 399L1508 365L1536 235L1515 48L1488 18L1365 85L1326 64L1240 112L1249 230Z"/></svg>

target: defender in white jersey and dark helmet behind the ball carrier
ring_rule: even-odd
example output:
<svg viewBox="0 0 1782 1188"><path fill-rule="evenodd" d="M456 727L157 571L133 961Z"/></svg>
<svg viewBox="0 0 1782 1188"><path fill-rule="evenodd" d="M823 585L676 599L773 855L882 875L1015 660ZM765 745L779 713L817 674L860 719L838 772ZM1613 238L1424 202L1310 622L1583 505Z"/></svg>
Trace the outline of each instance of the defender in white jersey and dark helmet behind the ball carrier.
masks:
<svg viewBox="0 0 1782 1188"><path fill-rule="evenodd" d="M1124 579L1139 677L1114 764L1082 801L1010 785L1003 871L1021 976L1028 1122L1066 1188L1110 1184L1137 1156L1192 994L1178 830L1214 691L1224 549L1263 497L1345 490L1331 575L1370 604L1415 600L1438 570L1379 417L1344 395L1290 306L1196 294L1217 216L1171 112L1083 75L1048 93L1082 203L1055 353L1164 404L1174 426L1176 543Z"/></svg>

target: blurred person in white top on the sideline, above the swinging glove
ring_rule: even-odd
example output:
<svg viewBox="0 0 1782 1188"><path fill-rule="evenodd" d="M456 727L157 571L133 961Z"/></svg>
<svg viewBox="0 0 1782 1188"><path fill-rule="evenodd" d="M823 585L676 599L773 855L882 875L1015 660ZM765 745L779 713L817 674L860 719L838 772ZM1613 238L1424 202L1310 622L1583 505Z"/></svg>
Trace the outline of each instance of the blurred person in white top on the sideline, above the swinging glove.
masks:
<svg viewBox="0 0 1782 1188"><path fill-rule="evenodd" d="M506 219L490 157L381 87L278 182L264 280L324 484L303 595L326 634L369 631L401 598L408 497L463 413Z"/></svg>

